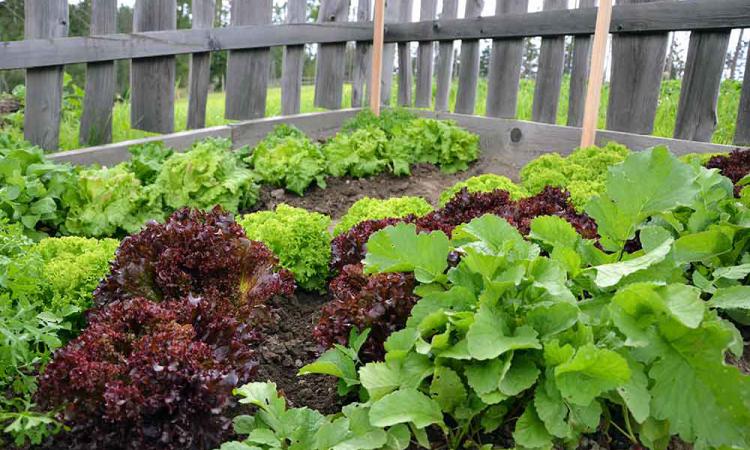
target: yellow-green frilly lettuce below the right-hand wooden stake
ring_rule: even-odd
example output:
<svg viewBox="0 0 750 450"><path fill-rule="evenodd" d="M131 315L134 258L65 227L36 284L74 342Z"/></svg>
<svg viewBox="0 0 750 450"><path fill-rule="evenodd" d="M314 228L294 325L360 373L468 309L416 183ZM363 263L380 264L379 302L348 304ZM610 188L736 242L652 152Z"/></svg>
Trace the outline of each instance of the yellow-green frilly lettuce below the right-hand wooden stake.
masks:
<svg viewBox="0 0 750 450"><path fill-rule="evenodd" d="M610 142L604 147L575 150L568 157L548 153L521 169L521 185L530 193L541 192L545 186L560 187L570 192L577 209L583 209L591 197L604 191L607 169L622 162L629 150Z"/></svg>

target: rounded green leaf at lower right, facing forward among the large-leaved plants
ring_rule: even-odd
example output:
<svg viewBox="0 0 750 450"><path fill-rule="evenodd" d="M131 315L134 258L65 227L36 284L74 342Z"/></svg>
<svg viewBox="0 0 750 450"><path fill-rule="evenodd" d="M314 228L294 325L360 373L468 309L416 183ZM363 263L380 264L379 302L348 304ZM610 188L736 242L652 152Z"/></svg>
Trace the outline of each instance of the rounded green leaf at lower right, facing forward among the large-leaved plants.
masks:
<svg viewBox="0 0 750 450"><path fill-rule="evenodd" d="M570 361L555 368L560 393L568 401L581 406L624 385L630 376L630 368L622 356L593 344L579 348Z"/></svg>

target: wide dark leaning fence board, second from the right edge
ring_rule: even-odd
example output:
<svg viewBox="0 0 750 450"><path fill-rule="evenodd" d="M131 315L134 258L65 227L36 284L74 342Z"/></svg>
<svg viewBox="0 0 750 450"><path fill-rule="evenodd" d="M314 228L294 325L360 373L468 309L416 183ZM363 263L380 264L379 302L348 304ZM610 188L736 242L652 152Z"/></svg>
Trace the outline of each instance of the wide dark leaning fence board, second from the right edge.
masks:
<svg viewBox="0 0 750 450"><path fill-rule="evenodd" d="M677 108L676 139L711 141L729 35L729 31L691 33Z"/></svg>

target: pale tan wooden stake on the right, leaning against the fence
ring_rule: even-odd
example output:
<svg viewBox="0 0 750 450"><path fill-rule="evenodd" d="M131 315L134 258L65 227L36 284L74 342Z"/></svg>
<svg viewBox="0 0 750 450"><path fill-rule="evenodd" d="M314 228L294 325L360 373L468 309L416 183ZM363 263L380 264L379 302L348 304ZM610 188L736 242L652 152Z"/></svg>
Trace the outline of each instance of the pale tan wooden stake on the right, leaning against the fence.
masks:
<svg viewBox="0 0 750 450"><path fill-rule="evenodd" d="M609 24L612 19L612 0L599 0L596 14L594 44L591 49L591 71L583 109L583 133L581 147L591 147L596 141L596 126L599 121L599 104L604 82L604 57L607 53Z"/></svg>

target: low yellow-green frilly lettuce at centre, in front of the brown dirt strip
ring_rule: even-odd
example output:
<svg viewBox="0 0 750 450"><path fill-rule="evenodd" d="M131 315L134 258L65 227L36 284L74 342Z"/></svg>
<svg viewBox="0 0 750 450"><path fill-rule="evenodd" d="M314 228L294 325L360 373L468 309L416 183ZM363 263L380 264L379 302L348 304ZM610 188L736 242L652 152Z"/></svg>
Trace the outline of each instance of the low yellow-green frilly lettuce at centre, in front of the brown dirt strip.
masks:
<svg viewBox="0 0 750 450"><path fill-rule="evenodd" d="M423 216L430 211L432 206L422 197L394 197L384 200L364 197L349 207L334 227L333 235L338 236L365 220L400 218L410 214Z"/></svg>

